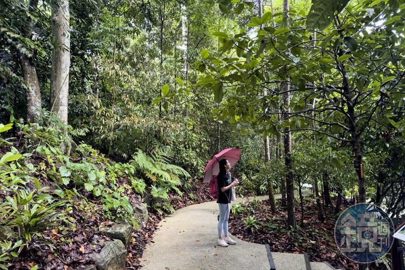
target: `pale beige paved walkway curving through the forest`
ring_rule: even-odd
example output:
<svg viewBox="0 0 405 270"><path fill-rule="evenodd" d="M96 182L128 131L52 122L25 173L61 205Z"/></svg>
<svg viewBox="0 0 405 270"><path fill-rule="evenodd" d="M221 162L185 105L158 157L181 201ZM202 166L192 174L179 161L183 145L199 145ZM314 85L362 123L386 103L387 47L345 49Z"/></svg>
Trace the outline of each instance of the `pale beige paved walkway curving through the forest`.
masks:
<svg viewBox="0 0 405 270"><path fill-rule="evenodd" d="M307 195L309 191L305 191ZM268 197L255 198L266 200ZM280 195L276 195L276 199L279 198ZM236 203L240 202L241 198L238 198ZM144 250L142 269L269 270L264 245L233 237L236 245L217 246L218 214L218 205L213 201L182 208L161 220L153 237L154 243L148 244ZM291 267L301 268L297 268L293 261ZM288 268L290 266L286 265L286 269Z"/></svg>

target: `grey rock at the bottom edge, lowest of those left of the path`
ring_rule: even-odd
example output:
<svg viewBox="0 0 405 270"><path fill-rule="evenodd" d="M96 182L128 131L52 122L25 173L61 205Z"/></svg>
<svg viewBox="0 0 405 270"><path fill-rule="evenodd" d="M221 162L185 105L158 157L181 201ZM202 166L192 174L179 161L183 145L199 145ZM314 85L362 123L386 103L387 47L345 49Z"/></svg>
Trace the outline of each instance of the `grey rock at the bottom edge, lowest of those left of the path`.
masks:
<svg viewBox="0 0 405 270"><path fill-rule="evenodd" d="M125 270L127 249L123 242L114 239L107 242L100 253L93 253L90 258L96 263L98 270Z"/></svg>

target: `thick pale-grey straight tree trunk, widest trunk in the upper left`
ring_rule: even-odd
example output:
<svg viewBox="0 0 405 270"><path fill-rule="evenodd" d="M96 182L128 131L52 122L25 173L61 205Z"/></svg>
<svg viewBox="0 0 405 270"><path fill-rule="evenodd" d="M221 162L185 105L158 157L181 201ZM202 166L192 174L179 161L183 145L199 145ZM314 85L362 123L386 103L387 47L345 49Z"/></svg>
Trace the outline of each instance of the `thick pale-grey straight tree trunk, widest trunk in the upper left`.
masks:
<svg viewBox="0 0 405 270"><path fill-rule="evenodd" d="M67 99L69 95L70 26L69 1L58 0L52 6L51 111L67 124Z"/></svg>

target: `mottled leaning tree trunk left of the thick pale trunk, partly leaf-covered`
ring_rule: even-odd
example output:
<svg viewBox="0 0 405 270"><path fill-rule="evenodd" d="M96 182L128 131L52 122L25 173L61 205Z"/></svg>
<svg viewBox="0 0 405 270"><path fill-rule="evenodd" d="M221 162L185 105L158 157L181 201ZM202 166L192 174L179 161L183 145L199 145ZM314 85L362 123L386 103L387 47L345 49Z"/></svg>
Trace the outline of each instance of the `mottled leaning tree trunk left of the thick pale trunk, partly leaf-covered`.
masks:
<svg viewBox="0 0 405 270"><path fill-rule="evenodd" d="M38 8L38 0L30 0L28 12L35 12ZM24 29L22 29L22 36L31 38L32 33L32 17L27 16ZM28 89L25 90L25 98L27 101L27 120L34 122L35 118L39 116L39 110L42 108L41 104L41 90L39 89L38 76L36 74L35 66L32 62L32 57L28 57L16 46L18 58L20 60L21 70L24 81L28 83Z"/></svg>

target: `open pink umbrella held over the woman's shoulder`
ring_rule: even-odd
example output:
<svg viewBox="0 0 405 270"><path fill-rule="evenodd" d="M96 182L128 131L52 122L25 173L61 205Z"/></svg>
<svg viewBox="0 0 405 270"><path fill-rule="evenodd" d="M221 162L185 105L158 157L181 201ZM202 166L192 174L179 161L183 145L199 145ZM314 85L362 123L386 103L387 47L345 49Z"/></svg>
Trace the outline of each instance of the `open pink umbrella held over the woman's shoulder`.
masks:
<svg viewBox="0 0 405 270"><path fill-rule="evenodd" d="M231 164L231 168L240 159L240 153L242 150L236 148L226 148L217 153L204 169L204 181L203 183L209 183L213 175L218 175L219 173L219 161L222 159L227 159Z"/></svg>

